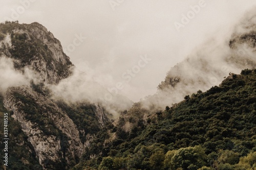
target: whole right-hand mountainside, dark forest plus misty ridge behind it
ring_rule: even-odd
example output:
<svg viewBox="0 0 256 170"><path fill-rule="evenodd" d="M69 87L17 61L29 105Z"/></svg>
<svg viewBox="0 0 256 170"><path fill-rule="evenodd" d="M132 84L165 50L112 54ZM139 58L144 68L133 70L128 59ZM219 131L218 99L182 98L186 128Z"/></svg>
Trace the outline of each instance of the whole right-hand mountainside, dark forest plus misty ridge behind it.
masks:
<svg viewBox="0 0 256 170"><path fill-rule="evenodd" d="M206 169L234 169L239 168L240 158L250 152L255 155L255 70L236 75L242 69L256 67L255 18L243 18L227 41L211 39L171 68L158 92L134 104L101 131L88 149L89 155L84 155L76 167L177 169L181 162L164 165L164 160L170 161L173 156L167 151L174 154L185 148L195 150L202 159L196 165L192 163L196 160L188 160L191 167L182 165L182 169L203 165L208 166ZM216 86L221 82L220 87ZM227 153L236 158L220 161Z"/></svg>

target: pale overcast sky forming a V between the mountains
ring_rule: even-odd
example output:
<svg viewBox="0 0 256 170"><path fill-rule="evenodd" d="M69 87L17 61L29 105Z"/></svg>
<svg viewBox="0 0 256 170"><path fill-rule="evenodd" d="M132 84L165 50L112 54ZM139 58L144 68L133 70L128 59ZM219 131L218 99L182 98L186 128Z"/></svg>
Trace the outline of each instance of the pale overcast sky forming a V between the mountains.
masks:
<svg viewBox="0 0 256 170"><path fill-rule="evenodd" d="M256 5L255 0L0 2L0 22L41 23L60 40L77 68L106 88L123 83L118 93L134 102L154 94L170 67L207 39L228 35ZM184 15L190 19L182 22ZM142 56L148 60L140 62Z"/></svg>

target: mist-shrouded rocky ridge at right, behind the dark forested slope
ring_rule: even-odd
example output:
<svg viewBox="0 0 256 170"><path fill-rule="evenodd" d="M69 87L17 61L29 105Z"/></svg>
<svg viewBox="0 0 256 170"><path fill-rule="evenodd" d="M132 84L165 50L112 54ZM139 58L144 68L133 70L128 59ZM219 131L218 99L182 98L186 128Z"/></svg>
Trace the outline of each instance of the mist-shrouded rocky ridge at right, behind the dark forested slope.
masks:
<svg viewBox="0 0 256 170"><path fill-rule="evenodd" d="M240 74L242 69L255 69L255 18L256 15L243 18L224 44L210 39L196 48L184 61L170 68L156 94L135 104L126 112L128 114L120 115L114 125L122 127L126 132L128 125L129 132L133 128L140 129L138 120L143 120L145 126L148 117L160 113L165 107L176 107L178 102L184 100L184 96L189 98L189 95L194 96L198 90L206 91L221 84L231 72ZM136 120L136 123L132 124L131 120Z"/></svg>

